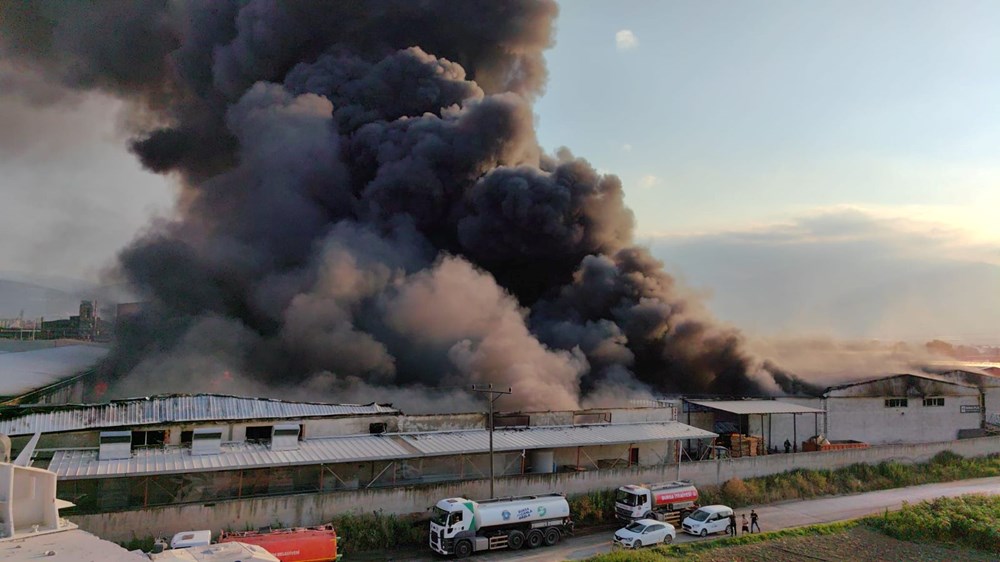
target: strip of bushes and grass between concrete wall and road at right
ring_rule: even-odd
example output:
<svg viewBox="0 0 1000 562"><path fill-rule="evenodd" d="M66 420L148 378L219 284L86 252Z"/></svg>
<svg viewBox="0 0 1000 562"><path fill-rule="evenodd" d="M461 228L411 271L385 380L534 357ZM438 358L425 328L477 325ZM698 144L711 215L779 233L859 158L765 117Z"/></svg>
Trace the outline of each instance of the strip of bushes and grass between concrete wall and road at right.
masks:
<svg viewBox="0 0 1000 562"><path fill-rule="evenodd" d="M854 464L836 470L792 470L747 480L733 478L722 486L704 486L698 491L703 505L745 507L987 476L1000 476L1000 455L966 459L943 451L923 464L890 461Z"/></svg>

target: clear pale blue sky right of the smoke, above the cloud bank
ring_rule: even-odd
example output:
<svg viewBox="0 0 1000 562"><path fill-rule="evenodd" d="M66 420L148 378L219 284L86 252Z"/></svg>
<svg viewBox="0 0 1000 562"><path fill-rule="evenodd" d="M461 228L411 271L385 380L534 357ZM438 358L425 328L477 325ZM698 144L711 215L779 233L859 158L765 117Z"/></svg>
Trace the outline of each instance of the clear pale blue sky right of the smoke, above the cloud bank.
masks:
<svg viewBox="0 0 1000 562"><path fill-rule="evenodd" d="M645 235L852 205L998 239L998 21L996 2L563 2L539 136L621 175Z"/></svg>

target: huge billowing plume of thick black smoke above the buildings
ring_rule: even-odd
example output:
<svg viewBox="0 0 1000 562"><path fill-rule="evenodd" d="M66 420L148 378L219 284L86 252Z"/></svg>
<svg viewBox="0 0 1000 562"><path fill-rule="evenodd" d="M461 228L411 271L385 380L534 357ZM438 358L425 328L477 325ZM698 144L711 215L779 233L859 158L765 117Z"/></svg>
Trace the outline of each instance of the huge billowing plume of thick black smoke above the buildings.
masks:
<svg viewBox="0 0 1000 562"><path fill-rule="evenodd" d="M618 178L540 150L556 12L0 4L6 56L130 101L149 124L132 150L183 184L177 218L121 254L149 305L119 386L492 382L542 409L609 386L759 393L739 336L632 244Z"/></svg>

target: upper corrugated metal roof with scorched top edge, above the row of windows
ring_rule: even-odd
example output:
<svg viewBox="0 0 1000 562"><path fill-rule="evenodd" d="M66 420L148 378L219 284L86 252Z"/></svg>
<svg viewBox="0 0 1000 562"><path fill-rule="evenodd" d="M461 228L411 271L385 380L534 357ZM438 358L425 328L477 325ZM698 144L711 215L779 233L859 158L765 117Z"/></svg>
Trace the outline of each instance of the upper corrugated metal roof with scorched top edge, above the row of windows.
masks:
<svg viewBox="0 0 1000 562"><path fill-rule="evenodd" d="M106 404L0 408L0 433L31 435L36 432L55 433L165 423L398 413L399 410L381 404L314 404L223 394L169 394L114 400Z"/></svg>

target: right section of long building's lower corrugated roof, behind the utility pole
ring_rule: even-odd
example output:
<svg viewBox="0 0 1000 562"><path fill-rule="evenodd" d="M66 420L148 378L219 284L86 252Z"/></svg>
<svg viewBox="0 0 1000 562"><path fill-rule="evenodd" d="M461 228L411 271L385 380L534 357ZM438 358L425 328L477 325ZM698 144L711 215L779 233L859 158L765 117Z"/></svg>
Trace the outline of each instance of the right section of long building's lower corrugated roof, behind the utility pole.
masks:
<svg viewBox="0 0 1000 562"><path fill-rule="evenodd" d="M497 451L519 451L667 439L707 439L716 436L710 431L680 422L530 427L495 430L493 448ZM485 429L401 434L400 437L426 455L481 453L489 450L489 432Z"/></svg>

